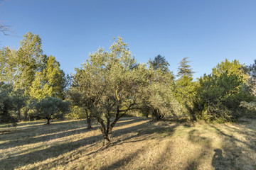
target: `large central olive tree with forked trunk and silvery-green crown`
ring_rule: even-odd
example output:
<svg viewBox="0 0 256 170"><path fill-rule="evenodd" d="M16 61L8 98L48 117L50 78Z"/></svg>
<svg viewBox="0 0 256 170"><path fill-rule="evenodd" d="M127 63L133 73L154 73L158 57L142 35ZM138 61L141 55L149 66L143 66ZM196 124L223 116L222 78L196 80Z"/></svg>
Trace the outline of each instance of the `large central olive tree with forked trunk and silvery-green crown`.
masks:
<svg viewBox="0 0 256 170"><path fill-rule="evenodd" d="M114 41L110 51L100 48L75 69L73 86L85 96L87 108L100 123L105 144L110 143L119 118L137 109L140 89L146 86L145 69L136 63L122 38Z"/></svg>

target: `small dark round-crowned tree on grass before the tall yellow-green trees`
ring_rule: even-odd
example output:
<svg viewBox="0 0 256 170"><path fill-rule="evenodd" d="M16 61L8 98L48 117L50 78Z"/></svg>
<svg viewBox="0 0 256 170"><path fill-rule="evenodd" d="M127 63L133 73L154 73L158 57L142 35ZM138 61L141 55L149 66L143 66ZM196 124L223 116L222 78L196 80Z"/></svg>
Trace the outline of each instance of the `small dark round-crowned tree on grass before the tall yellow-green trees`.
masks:
<svg viewBox="0 0 256 170"><path fill-rule="evenodd" d="M36 110L36 113L41 118L47 119L47 124L50 124L50 118L61 118L65 113L70 111L70 102L62 101L60 98L46 97L41 101L31 101L31 110Z"/></svg>

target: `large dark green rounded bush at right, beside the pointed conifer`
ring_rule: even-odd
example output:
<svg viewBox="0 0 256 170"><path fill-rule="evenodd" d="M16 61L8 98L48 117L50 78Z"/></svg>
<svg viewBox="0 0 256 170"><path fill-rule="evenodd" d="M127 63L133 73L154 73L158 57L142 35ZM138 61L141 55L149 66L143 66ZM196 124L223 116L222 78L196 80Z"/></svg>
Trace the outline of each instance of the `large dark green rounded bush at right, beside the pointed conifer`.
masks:
<svg viewBox="0 0 256 170"><path fill-rule="evenodd" d="M235 74L204 75L199 79L190 109L192 118L226 122L240 117L240 102L252 101L252 96L242 86L242 80Z"/></svg>

